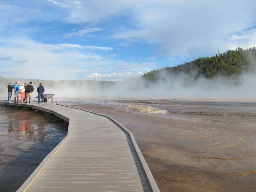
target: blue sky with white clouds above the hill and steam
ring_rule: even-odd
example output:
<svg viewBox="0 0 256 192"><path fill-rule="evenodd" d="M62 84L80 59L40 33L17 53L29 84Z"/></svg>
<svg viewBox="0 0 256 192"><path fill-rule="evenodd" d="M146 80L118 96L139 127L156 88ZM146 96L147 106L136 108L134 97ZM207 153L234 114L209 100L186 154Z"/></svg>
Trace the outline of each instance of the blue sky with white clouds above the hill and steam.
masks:
<svg viewBox="0 0 256 192"><path fill-rule="evenodd" d="M119 81L256 46L255 0L0 0L0 76Z"/></svg>

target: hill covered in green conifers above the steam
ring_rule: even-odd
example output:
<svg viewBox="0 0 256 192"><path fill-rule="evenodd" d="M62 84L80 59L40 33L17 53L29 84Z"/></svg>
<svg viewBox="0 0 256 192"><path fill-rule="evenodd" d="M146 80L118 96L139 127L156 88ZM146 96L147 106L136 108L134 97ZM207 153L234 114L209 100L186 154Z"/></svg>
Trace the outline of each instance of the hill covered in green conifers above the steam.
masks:
<svg viewBox="0 0 256 192"><path fill-rule="evenodd" d="M200 57L191 62L185 62L176 67L165 67L145 73L142 78L145 80L156 81L164 75L186 74L191 78L198 79L204 76L211 79L214 76L232 76L240 75L242 71L252 69L252 60L256 60L256 49L236 48L223 53L216 54L212 57Z"/></svg>

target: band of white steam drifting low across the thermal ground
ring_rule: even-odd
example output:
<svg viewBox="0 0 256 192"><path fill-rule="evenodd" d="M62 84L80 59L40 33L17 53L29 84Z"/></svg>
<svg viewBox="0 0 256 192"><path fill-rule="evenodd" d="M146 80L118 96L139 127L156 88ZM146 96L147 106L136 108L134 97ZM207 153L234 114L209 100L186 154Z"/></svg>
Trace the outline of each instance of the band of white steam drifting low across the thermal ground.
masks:
<svg viewBox="0 0 256 192"><path fill-rule="evenodd" d="M200 77L192 80L185 74L167 75L162 73L158 82L146 82L140 76L133 76L126 81L97 82L97 81L43 81L32 80L33 86L43 83L45 93L54 93L55 98L141 98L141 99L244 99L255 100L256 95L256 62L251 60L251 71L236 77L215 77L205 79ZM7 81L0 89L6 90ZM13 79L20 83L30 80ZM36 92L33 94L37 95Z"/></svg>

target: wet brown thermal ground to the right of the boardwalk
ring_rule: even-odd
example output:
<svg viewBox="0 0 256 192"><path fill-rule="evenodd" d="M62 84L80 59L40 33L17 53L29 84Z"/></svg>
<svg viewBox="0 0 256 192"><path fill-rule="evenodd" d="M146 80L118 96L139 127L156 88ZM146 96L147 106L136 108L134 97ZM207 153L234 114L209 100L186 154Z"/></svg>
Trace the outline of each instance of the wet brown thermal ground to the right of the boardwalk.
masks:
<svg viewBox="0 0 256 192"><path fill-rule="evenodd" d="M132 131L162 192L256 191L255 103L122 99L60 103L112 116ZM152 108L168 113L147 113Z"/></svg>

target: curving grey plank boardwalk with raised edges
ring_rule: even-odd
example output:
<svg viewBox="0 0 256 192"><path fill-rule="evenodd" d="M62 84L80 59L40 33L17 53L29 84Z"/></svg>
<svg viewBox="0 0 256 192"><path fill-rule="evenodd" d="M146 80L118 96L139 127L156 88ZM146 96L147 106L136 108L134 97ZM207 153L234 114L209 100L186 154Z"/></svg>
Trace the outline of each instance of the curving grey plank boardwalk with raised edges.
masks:
<svg viewBox="0 0 256 192"><path fill-rule="evenodd" d="M68 135L17 192L159 191L132 133L111 117L49 102L0 104L31 107L69 121Z"/></svg>

